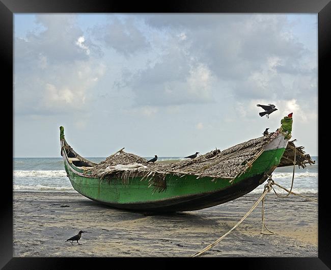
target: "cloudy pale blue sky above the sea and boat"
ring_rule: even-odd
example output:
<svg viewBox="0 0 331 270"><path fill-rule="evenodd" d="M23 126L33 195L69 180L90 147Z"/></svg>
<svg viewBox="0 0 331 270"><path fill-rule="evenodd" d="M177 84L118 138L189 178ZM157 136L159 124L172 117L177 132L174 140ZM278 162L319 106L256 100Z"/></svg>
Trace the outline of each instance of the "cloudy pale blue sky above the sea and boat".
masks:
<svg viewBox="0 0 331 270"><path fill-rule="evenodd" d="M14 14L14 156L185 156L293 112L317 153L318 14ZM279 109L267 119L256 104Z"/></svg>

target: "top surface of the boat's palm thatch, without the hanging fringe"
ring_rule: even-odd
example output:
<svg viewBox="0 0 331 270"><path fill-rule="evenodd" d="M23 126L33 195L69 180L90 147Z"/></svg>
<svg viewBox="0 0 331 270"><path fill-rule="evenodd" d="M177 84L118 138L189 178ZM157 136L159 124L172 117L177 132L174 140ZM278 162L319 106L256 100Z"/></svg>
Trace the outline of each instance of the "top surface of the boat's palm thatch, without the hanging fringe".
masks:
<svg viewBox="0 0 331 270"><path fill-rule="evenodd" d="M250 168L251 163L263 152L264 145L271 140L271 136L272 133L268 136L235 145L222 152L215 149L196 157L194 160L182 160L173 164L147 164L147 160L141 156L119 151L117 154L107 157L90 172L92 175L101 176L107 167L135 162L147 166L147 168L136 170L141 174L153 171L162 174L178 173L192 174L198 177L209 176L233 179Z"/></svg>

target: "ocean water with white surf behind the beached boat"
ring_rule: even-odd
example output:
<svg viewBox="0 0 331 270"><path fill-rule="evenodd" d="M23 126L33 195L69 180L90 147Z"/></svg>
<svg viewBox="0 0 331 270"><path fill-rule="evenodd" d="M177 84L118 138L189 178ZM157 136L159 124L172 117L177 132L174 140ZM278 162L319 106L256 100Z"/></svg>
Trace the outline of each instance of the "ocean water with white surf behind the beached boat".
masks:
<svg viewBox="0 0 331 270"><path fill-rule="evenodd" d="M145 157L150 159L152 157ZM87 159L100 163L105 157L87 157ZM184 159L183 157L158 157L158 160ZM318 157L314 165L308 165L305 169L295 167L293 192L318 193ZM13 158L13 190L14 191L38 191L38 192L76 192L66 171L62 157L15 157ZM280 185L291 188L293 166L277 168L272 174L272 179ZM252 193L262 193L263 186L258 186ZM286 194L283 189L275 186L280 194Z"/></svg>

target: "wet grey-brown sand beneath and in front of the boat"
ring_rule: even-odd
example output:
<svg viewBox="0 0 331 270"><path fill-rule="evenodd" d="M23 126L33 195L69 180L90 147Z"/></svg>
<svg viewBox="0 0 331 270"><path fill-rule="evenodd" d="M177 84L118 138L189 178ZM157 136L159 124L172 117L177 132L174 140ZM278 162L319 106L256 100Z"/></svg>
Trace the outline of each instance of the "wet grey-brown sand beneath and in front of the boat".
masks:
<svg viewBox="0 0 331 270"><path fill-rule="evenodd" d="M316 194L307 197L317 199ZM14 192L14 257L190 257L228 232L260 194L207 209L144 215L98 204L78 193ZM268 194L204 257L318 257L318 203ZM83 233L79 243L66 239ZM264 232L266 232L264 230Z"/></svg>

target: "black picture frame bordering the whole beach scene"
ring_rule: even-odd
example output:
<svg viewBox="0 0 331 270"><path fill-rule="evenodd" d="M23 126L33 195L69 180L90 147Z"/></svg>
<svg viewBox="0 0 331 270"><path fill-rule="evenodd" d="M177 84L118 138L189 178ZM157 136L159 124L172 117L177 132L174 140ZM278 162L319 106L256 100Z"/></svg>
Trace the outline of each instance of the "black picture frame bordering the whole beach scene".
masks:
<svg viewBox="0 0 331 270"><path fill-rule="evenodd" d="M331 3L329 0L186 0L159 2L120 2L120 1L100 1L100 0L70 0L70 1L43 1L43 0L0 0L0 22L2 31L0 32L0 54L3 66L3 94L13 89L13 14L14 13L318 13L318 92L322 95L326 91L326 80L328 73L328 60L330 59L331 48ZM5 84L4 84L5 83ZM5 87L6 86L6 87ZM329 88L329 87L328 87ZM14 89L12 104L14 98ZM10 97L10 95L9 95ZM323 102L322 99L318 99ZM7 98L3 98L3 104L9 104ZM323 106L319 103L320 108ZM7 112L7 113L6 113ZM12 107L13 112L13 107ZM8 110L3 110L4 120L10 121L7 116ZM3 124L6 137L14 134L14 116L12 122ZM8 128L12 127L12 128ZM12 131L12 132L11 132ZM33 132L33 131L31 131ZM309 132L309 131L308 131ZM6 138L7 139L7 138ZM5 141L6 139L3 139ZM11 141L10 138L8 138ZM12 141L14 143L14 141ZM5 149L5 148L3 148ZM12 149L13 150L13 149ZM8 150L7 150L8 151ZM7 153L7 151L4 151ZM318 151L320 168L323 170L323 153ZM7 158L9 160L9 158ZM7 161L8 161L7 160ZM7 166L5 167L7 168ZM6 169L7 170L7 169ZM320 173L320 171L319 171ZM318 258L208 258L222 262L217 267L224 267L230 263L231 268L249 267L252 269L329 269L331 267L330 248L330 219L328 193L329 185L327 178L321 178L319 187L319 207L318 207ZM94 267L115 267L114 264L103 264L108 259L114 261L117 258L13 258L13 194L12 181L8 177L2 179L1 196L1 230L0 230L0 267L4 269L59 269L78 268L87 263L93 263ZM131 263L132 259L121 259L121 267L126 263ZM160 258L151 258L157 259ZM162 258L164 259L164 258ZM168 258L169 259L169 258ZM177 263L179 259L185 263L196 264L202 258L170 258ZM197 261L198 260L198 261ZM220 261L219 261L220 260ZM219 262L218 262L219 261ZM97 263L97 264L96 264ZM113 262L112 262L113 263ZM124 265L123 265L124 263ZM224 264L223 264L224 263ZM99 266L98 266L99 265ZM143 267L147 267L144 265ZM149 267L149 266L148 266ZM150 265L158 267L158 265Z"/></svg>

